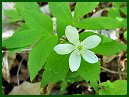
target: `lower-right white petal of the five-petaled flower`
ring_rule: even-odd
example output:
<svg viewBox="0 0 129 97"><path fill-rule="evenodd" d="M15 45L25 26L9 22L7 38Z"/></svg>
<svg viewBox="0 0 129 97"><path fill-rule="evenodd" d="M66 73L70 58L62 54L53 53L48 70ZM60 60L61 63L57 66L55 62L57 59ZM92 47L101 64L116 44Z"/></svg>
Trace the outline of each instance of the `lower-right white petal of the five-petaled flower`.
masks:
<svg viewBox="0 0 129 97"><path fill-rule="evenodd" d="M85 50L82 53L82 57L85 61L89 62L89 63L96 63L98 62L98 57L94 54L94 52L90 51L90 50Z"/></svg>

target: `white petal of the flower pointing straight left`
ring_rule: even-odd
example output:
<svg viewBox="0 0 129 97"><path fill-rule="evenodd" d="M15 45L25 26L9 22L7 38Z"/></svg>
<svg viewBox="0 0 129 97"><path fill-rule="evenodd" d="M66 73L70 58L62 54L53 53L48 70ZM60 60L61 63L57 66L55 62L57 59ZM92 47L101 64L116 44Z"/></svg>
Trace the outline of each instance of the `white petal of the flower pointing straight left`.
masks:
<svg viewBox="0 0 129 97"><path fill-rule="evenodd" d="M61 55L69 54L73 50L74 50L74 46L72 44L58 44L54 47L54 51Z"/></svg>

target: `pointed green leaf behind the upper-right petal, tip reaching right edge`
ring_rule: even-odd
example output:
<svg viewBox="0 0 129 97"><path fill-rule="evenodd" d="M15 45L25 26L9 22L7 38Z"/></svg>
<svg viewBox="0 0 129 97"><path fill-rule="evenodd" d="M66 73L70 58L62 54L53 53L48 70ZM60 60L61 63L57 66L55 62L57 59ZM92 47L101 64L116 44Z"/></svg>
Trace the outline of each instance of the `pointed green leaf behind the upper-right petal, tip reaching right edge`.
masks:
<svg viewBox="0 0 129 97"><path fill-rule="evenodd" d="M96 54L112 56L127 49L127 46L125 44L119 43L118 41L112 40L109 37L100 34L95 34L93 32L81 33L80 40L83 41L86 37L91 35L98 35L101 38L101 43L97 47L91 49Z"/></svg>

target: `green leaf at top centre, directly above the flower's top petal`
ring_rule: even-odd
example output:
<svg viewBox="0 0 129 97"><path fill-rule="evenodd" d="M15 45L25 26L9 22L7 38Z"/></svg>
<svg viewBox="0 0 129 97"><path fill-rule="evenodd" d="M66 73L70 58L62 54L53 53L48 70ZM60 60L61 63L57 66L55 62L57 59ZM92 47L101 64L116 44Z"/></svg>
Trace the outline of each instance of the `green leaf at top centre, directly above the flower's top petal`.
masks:
<svg viewBox="0 0 129 97"><path fill-rule="evenodd" d="M49 2L48 4L53 16L57 18L57 33L60 38L64 35L66 26L71 25L73 21L70 6L67 2Z"/></svg>

